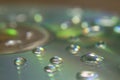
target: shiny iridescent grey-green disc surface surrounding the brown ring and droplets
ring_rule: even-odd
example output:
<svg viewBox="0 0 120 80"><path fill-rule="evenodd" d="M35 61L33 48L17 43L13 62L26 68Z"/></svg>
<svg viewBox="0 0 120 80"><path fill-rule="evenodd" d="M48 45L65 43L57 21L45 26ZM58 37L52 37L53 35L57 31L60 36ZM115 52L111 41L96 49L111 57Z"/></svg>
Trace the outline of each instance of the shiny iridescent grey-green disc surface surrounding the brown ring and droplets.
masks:
<svg viewBox="0 0 120 80"><path fill-rule="evenodd" d="M82 22L88 22L90 23L90 25L92 24L94 25L97 24L95 23L96 22L95 20L100 17L102 18L102 16L109 15L112 17L116 15L114 14L111 15L107 12L82 10L83 11L82 14L80 12L80 15L82 16L81 17L79 16L78 18L78 17L73 17L73 14L69 14L69 12L73 12L73 13L77 13L74 14L74 16L75 15L78 16L79 10L77 9L78 11L75 12L76 9L74 8L35 8L35 7L26 7L26 8L18 7L17 9L14 7L11 7L11 9L9 8L4 7L1 9L0 11L1 23L2 22L9 23L10 21L12 22L12 27L15 27L13 26L13 23L14 25L15 23L16 24L20 23L24 25L34 24L37 25L38 28L41 29L42 27L44 28L45 31L48 31L52 39L50 38L47 39L49 40L49 42L48 43L45 42L45 45L41 45L41 47L45 49L45 52L44 52L44 56L42 56L42 59L40 60L38 59L38 57L35 56L35 54L33 54L34 52L32 47L33 44L29 45L30 47L32 47L32 49L19 52L19 54L16 53L9 55L0 55L0 65L1 65L0 80L81 80L81 79L82 80L87 80L87 79L119 80L120 35L119 33L114 32L115 26L110 25L108 27L101 25L102 34L94 35L94 36L84 35L83 33L84 27L82 27L82 26L86 26L86 24L82 25ZM23 22L19 22L20 20L16 21L16 15L19 15L21 13L24 14L24 16L26 16L26 19L22 19ZM39 19L36 22L35 14L38 13L42 15L42 19L39 15L38 16ZM63 34L62 35L60 34L60 36L58 36L59 31L61 31L60 25L61 23L64 22L70 22L70 24L72 23L72 26L69 27L70 29L68 29L70 32L66 33L67 31L66 28L65 34L64 34L64 30L62 30ZM3 28L4 25L3 23L1 28ZM116 22L115 25L119 25L119 19L118 19L118 23ZM22 27L22 28L26 29L26 27ZM31 29L31 28L34 28L34 26L31 26L30 28L27 29ZM73 35L74 32L76 32L76 29L77 29L77 35L76 33L75 35ZM98 27L95 28L94 30L98 30ZM30 32L28 32L27 34L28 37L31 36ZM36 34L36 36L39 37L39 34L40 33ZM11 37L7 36L7 38L5 37L4 39L11 39ZM99 41L105 42L106 44L105 49L96 47L96 43L98 43ZM12 44L13 41L10 41L9 43ZM77 53L77 56L71 55L70 52L66 50L66 47L68 47L70 44L77 44L80 46L79 49L80 51ZM7 49L8 48L5 48L5 50ZM92 58L91 56L89 56L90 59L88 59L89 57L87 59L86 57L84 57L85 61L82 61L80 58L86 55L87 53L95 53L95 55ZM20 70L20 74L18 74L19 71L16 70L16 65L14 65L14 60L19 56L24 57L26 59L26 63L25 63L26 65ZM54 56L59 56L64 60L62 65L59 67L59 69L58 68L56 69L56 66L54 65L52 66L49 65L51 63L50 59ZM102 60L103 58L100 58L102 64L97 65L95 63L94 65L88 65L88 63L86 63L86 60L87 62L89 61L96 62L96 60L98 60L100 56L104 58L104 60ZM49 73L54 73L54 75L50 77Z"/></svg>

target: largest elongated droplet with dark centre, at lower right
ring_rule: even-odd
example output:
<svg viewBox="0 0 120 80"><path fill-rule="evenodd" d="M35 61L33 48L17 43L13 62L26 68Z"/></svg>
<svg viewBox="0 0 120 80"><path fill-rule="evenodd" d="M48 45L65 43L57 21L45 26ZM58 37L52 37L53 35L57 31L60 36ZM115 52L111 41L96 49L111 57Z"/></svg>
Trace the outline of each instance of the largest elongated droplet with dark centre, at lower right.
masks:
<svg viewBox="0 0 120 80"><path fill-rule="evenodd" d="M95 53L88 53L81 56L81 61L90 64L100 64L103 61L103 57L96 55Z"/></svg>

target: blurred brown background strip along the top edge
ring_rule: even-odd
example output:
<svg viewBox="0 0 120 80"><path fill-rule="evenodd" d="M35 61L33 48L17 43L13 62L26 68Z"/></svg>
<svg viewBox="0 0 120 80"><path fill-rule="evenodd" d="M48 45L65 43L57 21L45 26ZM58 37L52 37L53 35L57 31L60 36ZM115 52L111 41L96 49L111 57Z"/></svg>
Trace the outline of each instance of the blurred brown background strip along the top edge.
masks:
<svg viewBox="0 0 120 80"><path fill-rule="evenodd" d="M0 0L0 4L71 6L120 13L120 0Z"/></svg>

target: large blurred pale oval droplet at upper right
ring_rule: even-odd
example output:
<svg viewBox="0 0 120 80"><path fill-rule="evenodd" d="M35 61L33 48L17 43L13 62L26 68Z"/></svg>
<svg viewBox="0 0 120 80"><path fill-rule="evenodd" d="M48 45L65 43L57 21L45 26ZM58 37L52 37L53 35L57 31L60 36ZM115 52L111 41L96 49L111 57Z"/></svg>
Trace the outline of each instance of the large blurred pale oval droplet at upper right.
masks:
<svg viewBox="0 0 120 80"><path fill-rule="evenodd" d="M113 27L118 22L117 16L103 16L101 18L96 19L96 24L105 26L105 27Z"/></svg>

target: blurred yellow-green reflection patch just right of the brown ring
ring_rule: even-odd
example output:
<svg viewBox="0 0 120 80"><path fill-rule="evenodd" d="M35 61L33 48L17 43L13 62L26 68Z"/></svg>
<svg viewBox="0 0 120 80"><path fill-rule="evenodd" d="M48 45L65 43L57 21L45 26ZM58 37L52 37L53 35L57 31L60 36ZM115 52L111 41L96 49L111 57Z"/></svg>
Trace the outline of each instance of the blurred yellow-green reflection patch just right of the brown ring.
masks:
<svg viewBox="0 0 120 80"><path fill-rule="evenodd" d="M61 39L77 37L82 33L79 26L70 26L67 29L62 29L59 25L51 25L49 28L49 30L51 30L57 38Z"/></svg>

